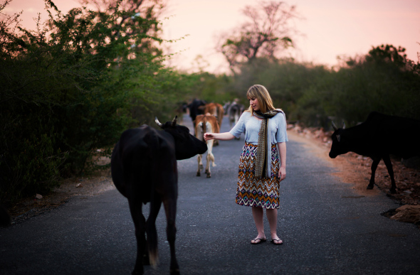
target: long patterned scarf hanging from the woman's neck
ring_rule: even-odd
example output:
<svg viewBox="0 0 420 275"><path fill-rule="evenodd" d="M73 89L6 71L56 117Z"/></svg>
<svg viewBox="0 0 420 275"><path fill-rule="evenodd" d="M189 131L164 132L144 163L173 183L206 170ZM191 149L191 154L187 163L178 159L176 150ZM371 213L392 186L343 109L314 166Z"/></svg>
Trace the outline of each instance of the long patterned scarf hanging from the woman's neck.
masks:
<svg viewBox="0 0 420 275"><path fill-rule="evenodd" d="M264 114L261 111L254 112L256 117L263 119L258 132L256 171L254 174L256 178L263 178L264 176L271 178L271 133L268 133L268 119L271 119L279 112L284 114L281 109L272 109Z"/></svg>

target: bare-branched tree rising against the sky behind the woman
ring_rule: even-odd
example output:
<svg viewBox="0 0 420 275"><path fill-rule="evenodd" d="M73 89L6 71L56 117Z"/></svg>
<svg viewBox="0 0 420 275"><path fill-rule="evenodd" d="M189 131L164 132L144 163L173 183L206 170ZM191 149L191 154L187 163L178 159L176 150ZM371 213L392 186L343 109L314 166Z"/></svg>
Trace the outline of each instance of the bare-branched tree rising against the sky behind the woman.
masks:
<svg viewBox="0 0 420 275"><path fill-rule="evenodd" d="M295 6L285 2L263 1L257 6L246 6L243 14L249 21L222 34L216 45L233 74L241 63L251 63L258 57L273 59L281 50L293 47L291 36L297 33L290 21L298 18L298 13Z"/></svg>

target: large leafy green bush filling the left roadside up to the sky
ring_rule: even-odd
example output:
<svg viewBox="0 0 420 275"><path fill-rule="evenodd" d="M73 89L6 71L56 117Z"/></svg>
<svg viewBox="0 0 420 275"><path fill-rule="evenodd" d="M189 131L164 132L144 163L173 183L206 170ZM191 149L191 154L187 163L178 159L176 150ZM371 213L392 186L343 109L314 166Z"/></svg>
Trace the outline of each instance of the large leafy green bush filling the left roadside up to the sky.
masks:
<svg viewBox="0 0 420 275"><path fill-rule="evenodd" d="M162 69L162 56L150 43L159 39L143 29L156 21L137 16L142 31L117 36L125 31L115 24L118 11L98 16L73 9L62 15L46 3L56 11L48 26L15 33L17 17L0 25L3 202L47 192L62 176L95 168L88 166L93 152L106 149L109 156L124 129L169 106L157 93L169 95L171 89L156 84L173 73ZM139 117L135 107L142 108Z"/></svg>

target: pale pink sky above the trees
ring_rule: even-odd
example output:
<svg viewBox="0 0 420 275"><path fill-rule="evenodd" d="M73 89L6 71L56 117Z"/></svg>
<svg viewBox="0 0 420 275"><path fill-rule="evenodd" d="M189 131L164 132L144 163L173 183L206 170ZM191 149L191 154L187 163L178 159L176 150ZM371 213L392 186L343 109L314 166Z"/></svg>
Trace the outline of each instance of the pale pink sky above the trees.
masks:
<svg viewBox="0 0 420 275"><path fill-rule="evenodd" d="M79 6L75 0L53 0L65 12ZM164 38L176 39L169 51L178 53L171 65L194 70L194 58L202 55L209 62L209 72L227 72L227 64L216 53L215 36L240 25L245 20L241 10L255 5L255 0L168 0L163 20ZM295 38L296 48L290 55L299 61L328 66L337 64L337 55L355 56L367 53L372 46L392 44L406 48L411 60L420 52L419 0L290 0L300 16L296 28L304 37ZM23 26L33 26L32 18L43 11L43 0L14 0L8 14L22 11ZM46 18L46 16L44 16Z"/></svg>

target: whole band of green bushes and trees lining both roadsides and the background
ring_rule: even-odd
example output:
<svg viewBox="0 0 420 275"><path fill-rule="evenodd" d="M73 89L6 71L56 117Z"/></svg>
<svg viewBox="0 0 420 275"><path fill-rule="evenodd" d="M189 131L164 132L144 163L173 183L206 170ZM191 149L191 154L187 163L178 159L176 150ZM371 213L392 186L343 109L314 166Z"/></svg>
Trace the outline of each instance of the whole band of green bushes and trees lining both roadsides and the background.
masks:
<svg viewBox="0 0 420 275"><path fill-rule="evenodd" d="M393 45L344 58L335 68L282 58L297 35L288 23L299 18L282 2L244 9L257 25L220 37L217 50L232 73L213 75L164 65L170 56L162 45L176 41L161 38L163 0L84 1L96 9L68 14L45 0L49 18L39 18L36 30L22 28L19 14L4 14L10 1L0 5L1 204L107 168L91 160L110 156L123 130L154 125L155 116L172 119L194 97L238 98L247 106L246 90L257 83L289 122L305 126L326 127L332 118L352 126L374 110L420 119L419 60ZM276 28L257 28L266 26L253 20L261 12Z"/></svg>

